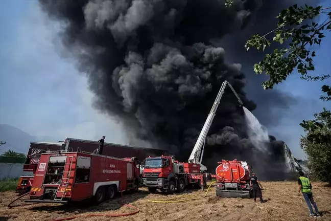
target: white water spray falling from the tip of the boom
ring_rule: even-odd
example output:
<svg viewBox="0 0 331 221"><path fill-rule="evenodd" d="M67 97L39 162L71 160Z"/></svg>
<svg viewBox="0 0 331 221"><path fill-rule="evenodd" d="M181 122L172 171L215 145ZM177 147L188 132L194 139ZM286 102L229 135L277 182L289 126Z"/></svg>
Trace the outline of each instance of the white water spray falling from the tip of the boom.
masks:
<svg viewBox="0 0 331 221"><path fill-rule="evenodd" d="M268 152L267 143L269 142L268 130L246 107L244 108L245 119L248 126L248 136L253 145L260 151Z"/></svg>

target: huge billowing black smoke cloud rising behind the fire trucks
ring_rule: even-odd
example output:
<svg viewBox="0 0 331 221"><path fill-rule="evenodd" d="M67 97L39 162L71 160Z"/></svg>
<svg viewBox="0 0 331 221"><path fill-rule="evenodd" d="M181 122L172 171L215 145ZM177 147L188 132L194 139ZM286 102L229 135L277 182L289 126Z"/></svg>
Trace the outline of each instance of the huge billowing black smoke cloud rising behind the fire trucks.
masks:
<svg viewBox="0 0 331 221"><path fill-rule="evenodd" d="M190 155L224 80L232 84L250 111L256 108L244 92L247 81L242 65L226 63L224 49L210 46L210 41L231 33L238 37L245 28L251 32L269 30L270 26L254 26L261 14L269 19L279 13L280 6L293 3L235 0L227 9L221 0L39 2L51 18L66 25L60 34L79 61L79 69L87 74L90 90L97 95L96 108L116 116L135 137L171 149L179 160ZM263 11L259 11L261 7ZM275 24L274 20L270 24ZM268 25L264 20L264 26ZM230 54L247 57L244 45L237 46L236 41L240 39L226 42L243 49ZM251 67L253 60L243 63ZM250 79L251 88L261 90L261 81ZM275 105L287 105L283 98L279 92L264 97L278 101ZM208 162L204 163L210 170L222 158L246 158L256 165L261 157L270 159L247 138L238 104L226 89L207 138L204 159Z"/></svg>

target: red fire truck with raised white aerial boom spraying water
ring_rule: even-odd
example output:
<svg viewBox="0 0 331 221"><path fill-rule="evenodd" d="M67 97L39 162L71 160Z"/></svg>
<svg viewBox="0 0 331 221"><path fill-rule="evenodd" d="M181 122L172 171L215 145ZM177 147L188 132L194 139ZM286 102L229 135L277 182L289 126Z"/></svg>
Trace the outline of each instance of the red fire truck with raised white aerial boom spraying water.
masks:
<svg viewBox="0 0 331 221"><path fill-rule="evenodd" d="M212 179L212 175L207 173L207 168L201 162L207 133L227 85L238 98L240 106L243 105L231 84L224 81L191 152L188 163L179 163L172 157L164 157L163 155L161 157L146 158L143 180L144 185L148 187L150 192L156 192L157 189L168 193L173 193L176 189L178 192L182 192L188 185L202 187L203 189L206 181Z"/></svg>

